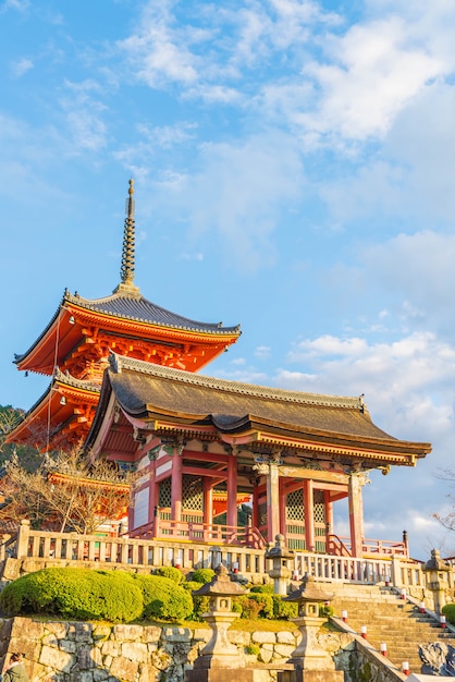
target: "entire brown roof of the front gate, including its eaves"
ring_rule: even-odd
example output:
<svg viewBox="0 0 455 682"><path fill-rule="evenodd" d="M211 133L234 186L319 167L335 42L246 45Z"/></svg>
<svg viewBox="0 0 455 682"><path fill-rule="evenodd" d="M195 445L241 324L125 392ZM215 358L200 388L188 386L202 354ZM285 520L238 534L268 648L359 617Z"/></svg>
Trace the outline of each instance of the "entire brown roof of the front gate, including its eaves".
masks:
<svg viewBox="0 0 455 682"><path fill-rule="evenodd" d="M214 427L226 436L274 434L284 441L382 453L397 463L431 451L429 443L403 441L372 421L362 398L287 391L201 376L121 355L110 355L101 398L85 446L91 447L107 414L112 391L128 419L163 424L165 428ZM390 454L389 454L390 453ZM399 459L399 458L398 458ZM396 463L395 462L395 463Z"/></svg>

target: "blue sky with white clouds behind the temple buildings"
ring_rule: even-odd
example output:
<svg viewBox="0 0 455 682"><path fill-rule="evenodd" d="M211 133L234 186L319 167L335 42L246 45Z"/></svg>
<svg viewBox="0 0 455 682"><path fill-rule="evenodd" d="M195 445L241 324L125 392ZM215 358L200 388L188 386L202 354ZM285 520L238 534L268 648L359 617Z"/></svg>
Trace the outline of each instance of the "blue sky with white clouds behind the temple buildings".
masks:
<svg viewBox="0 0 455 682"><path fill-rule="evenodd" d="M415 470L373 474L367 536L455 552L455 7L446 0L0 2L0 403L63 290L120 281L241 324L206 374L359 395ZM343 532L340 520L339 531Z"/></svg>

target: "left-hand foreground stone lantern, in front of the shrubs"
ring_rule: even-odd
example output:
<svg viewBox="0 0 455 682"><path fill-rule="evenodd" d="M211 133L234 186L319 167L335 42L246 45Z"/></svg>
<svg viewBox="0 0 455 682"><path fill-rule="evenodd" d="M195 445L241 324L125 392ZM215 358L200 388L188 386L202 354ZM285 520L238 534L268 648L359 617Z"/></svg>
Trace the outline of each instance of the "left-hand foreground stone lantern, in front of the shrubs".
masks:
<svg viewBox="0 0 455 682"><path fill-rule="evenodd" d="M244 595L245 589L231 582L228 569L220 563L210 583L193 592L198 597L209 597L209 611L202 618L209 623L212 635L195 660L193 670L185 672L185 682L225 682L232 680L230 670L235 670L236 682L250 682L254 671L245 669L245 660L228 638L228 629L239 613L232 611L232 598Z"/></svg>

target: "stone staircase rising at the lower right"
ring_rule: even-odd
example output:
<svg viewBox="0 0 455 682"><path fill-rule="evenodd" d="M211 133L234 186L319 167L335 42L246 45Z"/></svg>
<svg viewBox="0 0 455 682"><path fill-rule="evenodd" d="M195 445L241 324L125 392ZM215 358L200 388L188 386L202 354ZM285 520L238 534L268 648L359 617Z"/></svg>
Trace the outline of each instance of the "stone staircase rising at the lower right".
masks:
<svg viewBox="0 0 455 682"><path fill-rule="evenodd" d="M385 644L389 660L399 669L408 661L410 672L421 671L419 645L455 640L455 633L442 629L438 620L420 613L417 606L402 599L390 587L358 586L347 594L337 594L331 606L337 618L342 618L343 610L347 611L347 625L357 634L366 625L366 641L378 651Z"/></svg>

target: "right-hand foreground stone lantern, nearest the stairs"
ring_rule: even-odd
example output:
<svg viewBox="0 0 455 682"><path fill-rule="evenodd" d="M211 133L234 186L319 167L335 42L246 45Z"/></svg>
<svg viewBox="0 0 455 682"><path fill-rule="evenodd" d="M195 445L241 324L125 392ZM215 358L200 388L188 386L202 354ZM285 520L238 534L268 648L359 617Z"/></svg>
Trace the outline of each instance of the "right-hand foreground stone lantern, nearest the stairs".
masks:
<svg viewBox="0 0 455 682"><path fill-rule="evenodd" d="M300 644L293 651L290 662L294 671L279 672L279 682L343 682L343 671L335 670L330 654L318 643L318 631L327 621L319 617L319 605L328 602L333 595L323 592L315 580L305 575L298 589L283 601L296 601L298 616L294 622L302 634Z"/></svg>

